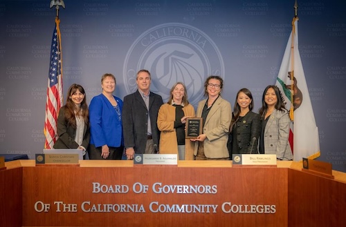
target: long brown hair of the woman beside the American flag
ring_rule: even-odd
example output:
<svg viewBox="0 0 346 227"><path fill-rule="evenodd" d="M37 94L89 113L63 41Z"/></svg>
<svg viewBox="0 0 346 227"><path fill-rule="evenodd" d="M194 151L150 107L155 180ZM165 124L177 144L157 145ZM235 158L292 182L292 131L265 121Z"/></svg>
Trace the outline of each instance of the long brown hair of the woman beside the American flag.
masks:
<svg viewBox="0 0 346 227"><path fill-rule="evenodd" d="M75 106L75 103L73 103L72 99L70 98L73 93L77 92L79 90L83 95L84 99L82 103L80 103L80 109ZM88 104L86 104L86 95L84 88L80 86L77 83L73 83L69 91L67 92L67 99L66 99L66 105L65 105L65 119L66 122L73 126L73 128L77 127L77 124L75 122L75 116L81 116L84 119L84 122L86 125L89 124L89 109L88 109Z"/></svg>

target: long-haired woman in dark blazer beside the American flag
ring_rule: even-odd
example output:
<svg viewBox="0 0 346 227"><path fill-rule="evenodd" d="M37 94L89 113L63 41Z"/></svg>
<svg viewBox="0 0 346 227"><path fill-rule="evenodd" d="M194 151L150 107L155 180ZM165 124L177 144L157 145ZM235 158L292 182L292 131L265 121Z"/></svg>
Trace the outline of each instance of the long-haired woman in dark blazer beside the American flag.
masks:
<svg viewBox="0 0 346 227"><path fill-rule="evenodd" d="M89 110L86 104L85 91L79 84L73 83L68 92L65 106L62 106L57 117L57 141L55 149L80 149L85 159L89 145Z"/></svg>

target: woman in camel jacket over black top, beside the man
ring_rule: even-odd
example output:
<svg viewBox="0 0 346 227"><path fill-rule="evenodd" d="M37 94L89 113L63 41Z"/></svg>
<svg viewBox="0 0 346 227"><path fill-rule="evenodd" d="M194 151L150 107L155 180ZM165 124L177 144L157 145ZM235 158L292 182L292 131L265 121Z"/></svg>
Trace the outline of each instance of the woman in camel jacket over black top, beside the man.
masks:
<svg viewBox="0 0 346 227"><path fill-rule="evenodd" d="M193 143L185 138L186 119L194 116L194 107L188 101L185 85L175 83L170 90L170 99L158 110L160 154L178 154L179 160L194 159Z"/></svg>

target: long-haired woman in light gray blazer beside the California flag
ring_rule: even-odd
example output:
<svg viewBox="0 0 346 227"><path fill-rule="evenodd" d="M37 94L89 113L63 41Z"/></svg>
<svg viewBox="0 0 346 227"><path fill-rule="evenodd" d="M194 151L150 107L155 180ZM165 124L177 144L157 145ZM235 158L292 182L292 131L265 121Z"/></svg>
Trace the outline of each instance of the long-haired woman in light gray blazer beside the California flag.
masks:
<svg viewBox="0 0 346 227"><path fill-rule="evenodd" d="M291 119L284 108L280 90L277 86L267 86L262 96L262 130L260 152L275 154L279 160L292 160L292 150L289 144Z"/></svg>

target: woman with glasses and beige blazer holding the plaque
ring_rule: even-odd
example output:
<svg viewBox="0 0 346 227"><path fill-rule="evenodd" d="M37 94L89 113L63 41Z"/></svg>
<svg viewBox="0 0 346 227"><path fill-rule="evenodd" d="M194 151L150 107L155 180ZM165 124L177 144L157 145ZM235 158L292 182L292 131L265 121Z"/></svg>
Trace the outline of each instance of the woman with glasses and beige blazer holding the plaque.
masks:
<svg viewBox="0 0 346 227"><path fill-rule="evenodd" d="M207 99L199 102L197 117L203 119L203 132L196 139L194 155L196 160L228 160L228 132L232 119L230 103L221 97L224 79L210 76L204 83Z"/></svg>

